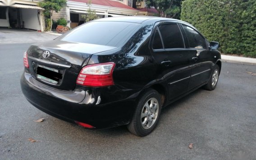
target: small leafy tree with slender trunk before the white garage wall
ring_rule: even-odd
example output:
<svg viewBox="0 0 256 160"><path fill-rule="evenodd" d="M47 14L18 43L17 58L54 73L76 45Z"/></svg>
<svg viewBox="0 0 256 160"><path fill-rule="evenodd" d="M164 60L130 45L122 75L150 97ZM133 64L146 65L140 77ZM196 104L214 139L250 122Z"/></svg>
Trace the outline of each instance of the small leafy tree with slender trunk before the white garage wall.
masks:
<svg viewBox="0 0 256 160"><path fill-rule="evenodd" d="M55 11L58 13L60 9L64 7L66 4L67 0L44 0L43 2L39 2L38 5L45 9L44 10L44 15L46 17L50 17L50 30L52 27L52 13Z"/></svg>

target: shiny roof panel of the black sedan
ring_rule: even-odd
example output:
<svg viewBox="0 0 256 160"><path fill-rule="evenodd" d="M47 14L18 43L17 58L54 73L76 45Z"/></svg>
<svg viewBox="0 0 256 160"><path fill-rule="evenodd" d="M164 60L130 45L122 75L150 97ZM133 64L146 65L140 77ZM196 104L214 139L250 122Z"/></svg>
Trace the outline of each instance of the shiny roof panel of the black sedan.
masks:
<svg viewBox="0 0 256 160"><path fill-rule="evenodd" d="M145 21L176 21L176 22L183 22L187 23L178 19L173 18L164 18L164 17L149 17L149 16L123 16L123 17L108 17L108 18L101 18L94 21L114 21L114 22L132 22L132 23L143 23ZM189 24L189 23L187 23ZM190 25L190 24L189 24Z"/></svg>

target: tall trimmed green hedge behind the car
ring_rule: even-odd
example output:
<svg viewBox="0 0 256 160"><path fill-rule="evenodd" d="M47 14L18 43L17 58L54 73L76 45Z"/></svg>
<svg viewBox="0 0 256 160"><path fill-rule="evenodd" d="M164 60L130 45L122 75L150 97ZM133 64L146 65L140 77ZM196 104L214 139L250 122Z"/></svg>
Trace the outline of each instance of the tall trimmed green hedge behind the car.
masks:
<svg viewBox="0 0 256 160"><path fill-rule="evenodd" d="M224 54L256 57L256 0L184 0L181 20L218 41Z"/></svg>

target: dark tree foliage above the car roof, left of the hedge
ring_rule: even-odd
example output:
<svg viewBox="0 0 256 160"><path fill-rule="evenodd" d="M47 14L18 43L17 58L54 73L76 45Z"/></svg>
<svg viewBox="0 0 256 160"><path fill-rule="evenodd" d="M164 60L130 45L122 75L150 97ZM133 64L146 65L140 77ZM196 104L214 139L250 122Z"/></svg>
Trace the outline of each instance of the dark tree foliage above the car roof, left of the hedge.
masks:
<svg viewBox="0 0 256 160"><path fill-rule="evenodd" d="M142 1L142 0L138 0ZM155 7L159 17L180 17L182 0L145 0L148 7Z"/></svg>

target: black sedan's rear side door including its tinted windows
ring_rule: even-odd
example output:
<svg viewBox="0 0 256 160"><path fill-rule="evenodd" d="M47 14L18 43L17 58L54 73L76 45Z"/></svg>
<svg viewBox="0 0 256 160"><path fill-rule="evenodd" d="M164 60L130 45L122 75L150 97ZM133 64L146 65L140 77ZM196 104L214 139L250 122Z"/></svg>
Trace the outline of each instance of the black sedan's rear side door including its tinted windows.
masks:
<svg viewBox="0 0 256 160"><path fill-rule="evenodd" d="M153 30L151 52L169 89L169 99L187 91L192 70L192 52L176 22L160 22Z"/></svg>

